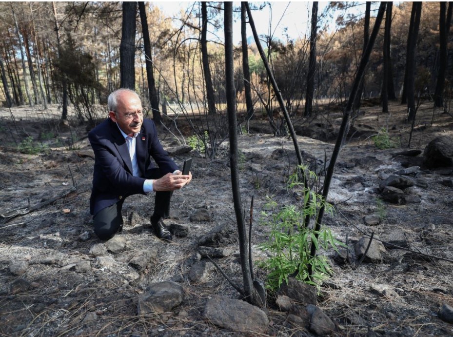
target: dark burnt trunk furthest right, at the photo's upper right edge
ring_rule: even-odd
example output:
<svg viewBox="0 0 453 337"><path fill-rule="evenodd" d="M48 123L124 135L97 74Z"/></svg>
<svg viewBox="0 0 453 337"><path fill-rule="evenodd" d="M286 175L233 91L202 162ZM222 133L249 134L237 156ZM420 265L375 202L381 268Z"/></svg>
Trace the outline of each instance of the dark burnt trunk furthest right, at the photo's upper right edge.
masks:
<svg viewBox="0 0 453 337"><path fill-rule="evenodd" d="M447 47L448 47L448 34L450 32L450 24L452 22L452 1L447 3L440 2L440 15L439 15L439 72L437 75L436 89L434 92L434 105L442 107L444 105L444 84L447 73ZM447 12L447 18L445 14Z"/></svg>

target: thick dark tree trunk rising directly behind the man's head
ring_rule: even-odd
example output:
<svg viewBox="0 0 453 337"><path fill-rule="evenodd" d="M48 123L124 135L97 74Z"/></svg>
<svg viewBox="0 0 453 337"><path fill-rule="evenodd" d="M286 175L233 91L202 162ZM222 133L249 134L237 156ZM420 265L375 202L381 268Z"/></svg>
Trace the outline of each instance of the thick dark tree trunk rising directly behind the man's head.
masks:
<svg viewBox="0 0 453 337"><path fill-rule="evenodd" d="M119 86L135 90L135 31L137 2L123 2L121 43L119 44Z"/></svg>

